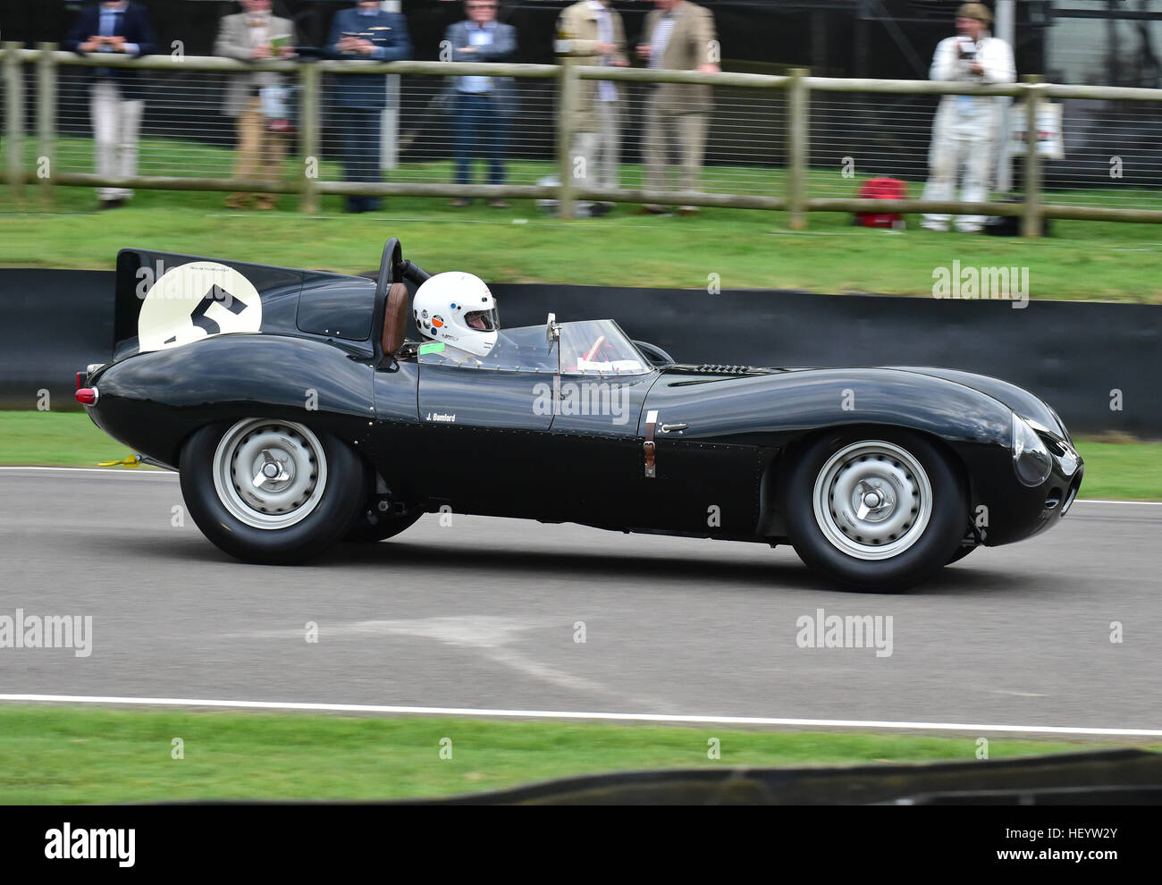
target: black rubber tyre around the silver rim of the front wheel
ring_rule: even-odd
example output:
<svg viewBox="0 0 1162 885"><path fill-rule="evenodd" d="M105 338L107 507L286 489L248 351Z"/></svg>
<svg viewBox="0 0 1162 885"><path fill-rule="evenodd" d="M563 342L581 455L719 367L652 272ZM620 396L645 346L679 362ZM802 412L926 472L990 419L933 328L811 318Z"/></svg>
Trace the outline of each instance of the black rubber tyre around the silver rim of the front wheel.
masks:
<svg viewBox="0 0 1162 885"><path fill-rule="evenodd" d="M858 458L862 451L861 446L867 446L868 451L871 451L876 442L884 442L888 444L888 447L903 449L905 455L918 462L927 480L931 499L926 524L923 524L921 527L920 518L917 518L914 525L905 527L902 532L902 535L906 535L906 538L898 544L906 542L910 546L902 548L898 554L888 555L884 559L863 559L862 554L853 555L849 548L840 546L845 538L839 537L834 528L832 528L832 533L839 537L839 540L833 541L829 538L824 528L829 521L829 513L822 512L817 517L813 502L818 481L823 499L829 502L827 511L831 515L831 523L838 525L842 521L837 517L837 511L832 509L831 502L834 502L834 496L831 494L831 489L833 487L829 484L824 470L827 468L827 476L831 476L832 465L842 465L844 453L848 451L852 452L852 455L847 455L847 458L852 458L853 462L860 462L858 466L861 469L862 461L880 460L889 465L895 463L895 467L889 469L913 476L914 472L908 466L909 459L901 456L899 461L894 462L890 451L885 455L873 453ZM837 462L833 459L839 460ZM787 534L795 546L795 552L812 569L848 590L867 592L906 590L941 569L955 555L956 548L964 537L964 525L968 519L968 495L960 472L955 469L949 456L935 444L916 433L868 427L862 430L844 429L840 432L823 434L797 455L791 456L782 470L781 480L780 505L786 520ZM919 498L928 494L924 491L923 483L919 483L919 489L920 491L917 492ZM902 505L904 497L897 495L896 501ZM908 512L916 513L917 511L910 510ZM903 509L901 509L901 518L908 518ZM853 547L862 546L862 541L858 544L856 540L847 538L846 542ZM875 551L874 547L871 549ZM890 551L890 547L882 549L887 552ZM882 554L876 551L875 555Z"/></svg>

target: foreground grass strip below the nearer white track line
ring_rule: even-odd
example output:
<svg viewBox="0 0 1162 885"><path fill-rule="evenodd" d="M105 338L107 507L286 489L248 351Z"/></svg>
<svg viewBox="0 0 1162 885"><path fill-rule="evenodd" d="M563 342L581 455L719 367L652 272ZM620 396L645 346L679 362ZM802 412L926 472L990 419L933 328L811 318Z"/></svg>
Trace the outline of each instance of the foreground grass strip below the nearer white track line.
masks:
<svg viewBox="0 0 1162 885"><path fill-rule="evenodd" d="M708 758L708 741L722 758ZM174 739L184 758L173 758ZM451 740L452 758L440 757ZM989 757L1103 744L989 739ZM400 799L708 765L973 760L976 739L452 718L0 707L0 803Z"/></svg>

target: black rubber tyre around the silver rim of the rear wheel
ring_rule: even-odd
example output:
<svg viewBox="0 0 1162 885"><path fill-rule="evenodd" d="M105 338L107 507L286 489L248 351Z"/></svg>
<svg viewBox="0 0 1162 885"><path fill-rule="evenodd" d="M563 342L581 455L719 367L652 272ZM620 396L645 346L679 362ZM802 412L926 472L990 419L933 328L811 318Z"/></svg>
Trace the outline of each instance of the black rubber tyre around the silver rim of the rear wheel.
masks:
<svg viewBox="0 0 1162 885"><path fill-rule="evenodd" d="M267 429L302 427L279 419L253 419L253 423ZM224 422L202 427L181 449L181 495L194 523L215 546L245 562L285 566L322 553L346 533L363 508L364 491L371 481L366 463L346 444L308 429L313 441L318 444L316 455L323 460L325 482L317 496L311 492L314 502L299 521L285 527L257 527L236 515L238 504L228 505L223 495L229 497L229 492L220 494L215 484L218 446L228 434L241 432L243 424ZM228 462L224 455L223 462ZM294 511L288 518L295 518Z"/></svg>

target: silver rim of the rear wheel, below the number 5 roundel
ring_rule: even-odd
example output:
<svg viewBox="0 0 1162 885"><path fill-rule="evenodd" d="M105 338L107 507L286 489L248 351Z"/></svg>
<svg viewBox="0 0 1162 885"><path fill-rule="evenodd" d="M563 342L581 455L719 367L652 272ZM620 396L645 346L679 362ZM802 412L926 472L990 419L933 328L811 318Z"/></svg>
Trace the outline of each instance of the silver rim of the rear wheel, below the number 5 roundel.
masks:
<svg viewBox="0 0 1162 885"><path fill-rule="evenodd" d="M327 455L308 427L248 418L214 452L214 490L232 517L254 528L301 523L323 497Z"/></svg>

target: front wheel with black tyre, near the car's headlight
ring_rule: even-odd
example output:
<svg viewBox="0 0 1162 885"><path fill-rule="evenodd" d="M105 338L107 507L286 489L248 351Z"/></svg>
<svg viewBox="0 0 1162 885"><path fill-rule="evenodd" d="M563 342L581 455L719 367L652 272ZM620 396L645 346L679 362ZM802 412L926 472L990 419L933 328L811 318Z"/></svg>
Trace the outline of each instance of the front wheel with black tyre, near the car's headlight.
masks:
<svg viewBox="0 0 1162 885"><path fill-rule="evenodd" d="M956 552L968 496L949 458L906 431L825 434L788 463L782 510L796 553L852 590L904 590Z"/></svg>

